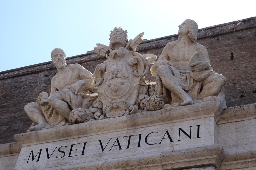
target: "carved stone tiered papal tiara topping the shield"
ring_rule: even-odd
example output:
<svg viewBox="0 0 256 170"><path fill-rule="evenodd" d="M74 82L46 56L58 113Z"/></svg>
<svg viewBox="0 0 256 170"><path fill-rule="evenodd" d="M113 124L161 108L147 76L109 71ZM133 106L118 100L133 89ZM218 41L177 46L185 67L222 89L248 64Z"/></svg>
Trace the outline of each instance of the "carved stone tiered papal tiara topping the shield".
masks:
<svg viewBox="0 0 256 170"><path fill-rule="evenodd" d="M113 48L113 44L115 43L121 43L121 46L125 47L125 45L128 42L127 39L127 31L123 30L121 27L119 28L114 28L112 31L110 31L110 35L109 35L109 40L110 40L110 46L112 49Z"/></svg>

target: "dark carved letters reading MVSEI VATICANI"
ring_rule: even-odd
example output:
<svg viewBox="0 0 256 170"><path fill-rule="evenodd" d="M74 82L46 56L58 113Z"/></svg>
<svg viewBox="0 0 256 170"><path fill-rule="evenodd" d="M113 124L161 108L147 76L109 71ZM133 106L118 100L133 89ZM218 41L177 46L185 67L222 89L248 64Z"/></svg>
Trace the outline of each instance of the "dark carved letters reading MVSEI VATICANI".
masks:
<svg viewBox="0 0 256 170"><path fill-rule="evenodd" d="M177 142L181 141L181 139L182 139L182 138L180 138L181 135L185 135L187 138L191 139L191 129L192 129L192 127L193 126L190 126L190 132L186 132L182 128L178 128L177 132L179 133L179 135L178 135L179 137L178 137ZM197 128L197 130L194 130L197 133L197 134L194 134L194 136L196 136L196 139L200 138L200 125L196 125L194 127ZM160 135L160 133L162 133L163 135L159 138L159 140L157 142L150 142L150 138L154 137L154 134L159 134ZM130 142L131 142L132 138L133 138L133 140L137 139L137 144L136 144L136 146L133 146L133 147L141 147L142 142L145 142L146 145L161 144L164 140L167 140L168 142L174 142L172 136L170 135L170 133L168 131L168 129L166 131L161 130L161 132L152 131L150 133L147 133L145 137L142 137L142 134L143 133L132 134L132 135L128 135L128 136L122 136L122 138L127 138L126 143L121 143L119 141L120 137L110 138L108 140L108 142L103 142L102 140L98 140L98 144L100 146L100 147L98 147L99 150L100 150L99 154L100 154L100 152L111 151L111 149L113 150L114 147L116 147L117 149L119 148L119 150L129 149L129 148L131 148ZM63 158L63 157L82 156L82 155L85 155L86 146L87 146L86 144L88 145L88 142L74 143L74 144L71 144L71 145L56 146L55 149L51 153L48 150L49 148L42 148L39 151L31 150L26 163L31 163L34 160L36 162L39 162L40 158L42 156L47 156L47 160L49 160L54 152L58 152L59 154L56 157L54 157L53 159L60 159L60 158ZM95 144L97 144L97 142ZM106 150L106 147L108 145L111 145L111 148L109 150L108 149ZM82 147L83 149L80 153L78 153L77 149L74 149L74 146L77 146L77 149L78 149L78 147ZM41 154L42 150L44 150L44 149L46 150L46 155ZM36 153L36 155L35 155L35 153Z"/></svg>

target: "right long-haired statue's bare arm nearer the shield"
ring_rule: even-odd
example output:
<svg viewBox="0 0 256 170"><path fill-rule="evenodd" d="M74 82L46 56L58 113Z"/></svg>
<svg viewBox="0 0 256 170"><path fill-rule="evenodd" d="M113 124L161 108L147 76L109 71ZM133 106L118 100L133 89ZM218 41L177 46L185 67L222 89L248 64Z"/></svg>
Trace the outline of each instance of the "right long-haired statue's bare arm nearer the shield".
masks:
<svg viewBox="0 0 256 170"><path fill-rule="evenodd" d="M169 42L163 49L161 55L159 56L158 60L156 61L155 64L152 65L152 67L150 68L150 71L151 71L151 74L152 76L156 76L157 74L157 68L160 66L160 65L171 65L172 64L169 62L169 56L168 56L168 52L170 50L171 47L171 42Z"/></svg>

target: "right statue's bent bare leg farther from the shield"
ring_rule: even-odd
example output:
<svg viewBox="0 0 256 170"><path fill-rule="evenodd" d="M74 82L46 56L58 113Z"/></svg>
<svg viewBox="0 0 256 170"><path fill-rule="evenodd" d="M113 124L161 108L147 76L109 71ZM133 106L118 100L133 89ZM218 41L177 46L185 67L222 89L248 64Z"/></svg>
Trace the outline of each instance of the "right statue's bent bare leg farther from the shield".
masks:
<svg viewBox="0 0 256 170"><path fill-rule="evenodd" d="M227 79L222 74L210 74L202 81L203 89L199 93L198 99L203 100L204 97L217 95L226 82Z"/></svg>

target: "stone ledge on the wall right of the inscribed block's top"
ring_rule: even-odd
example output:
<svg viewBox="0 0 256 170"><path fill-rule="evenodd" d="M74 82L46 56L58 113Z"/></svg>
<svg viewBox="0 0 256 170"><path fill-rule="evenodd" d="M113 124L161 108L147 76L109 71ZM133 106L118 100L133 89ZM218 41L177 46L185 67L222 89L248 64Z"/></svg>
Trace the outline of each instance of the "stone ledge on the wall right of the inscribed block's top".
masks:
<svg viewBox="0 0 256 170"><path fill-rule="evenodd" d="M256 103L227 108L223 111L218 124L256 119Z"/></svg>

